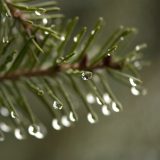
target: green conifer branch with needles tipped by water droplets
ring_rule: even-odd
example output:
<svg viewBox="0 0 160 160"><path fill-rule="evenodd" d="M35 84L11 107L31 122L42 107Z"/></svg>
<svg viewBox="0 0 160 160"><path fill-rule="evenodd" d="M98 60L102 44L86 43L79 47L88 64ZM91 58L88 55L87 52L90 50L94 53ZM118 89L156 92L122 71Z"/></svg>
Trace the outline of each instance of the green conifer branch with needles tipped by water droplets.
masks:
<svg viewBox="0 0 160 160"><path fill-rule="evenodd" d="M95 45L103 27L99 18L93 30L74 31L78 17L63 20L57 2L0 1L0 140L13 132L19 140L29 134L43 138L45 126L32 111L29 96L43 103L56 130L78 120L76 101L83 103L87 119L95 123L97 103L104 115L123 109L108 77L124 83L134 95L145 94L138 69L143 66L136 46L120 53L122 44L136 33L119 27L102 45Z"/></svg>

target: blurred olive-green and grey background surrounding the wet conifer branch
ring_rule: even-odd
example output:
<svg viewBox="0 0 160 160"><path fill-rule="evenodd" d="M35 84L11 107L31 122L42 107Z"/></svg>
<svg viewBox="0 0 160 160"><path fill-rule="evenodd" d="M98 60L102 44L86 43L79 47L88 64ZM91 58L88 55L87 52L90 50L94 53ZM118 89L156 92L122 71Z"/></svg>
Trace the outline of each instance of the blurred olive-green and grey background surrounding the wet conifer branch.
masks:
<svg viewBox="0 0 160 160"><path fill-rule="evenodd" d="M123 112L102 116L95 125L81 118L75 127L51 130L44 140L7 137L0 143L0 160L159 160L160 1L61 0L60 5L67 18L80 17L80 26L90 27L102 16L107 33L120 25L139 29L135 42L148 44L145 54L152 63L142 71L148 95L137 98L117 88Z"/></svg>

